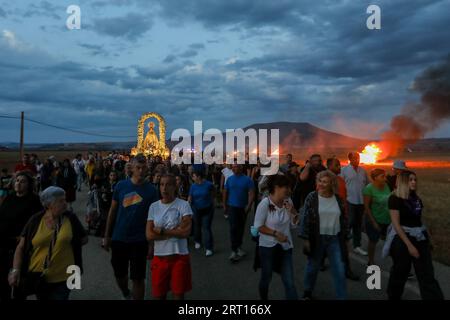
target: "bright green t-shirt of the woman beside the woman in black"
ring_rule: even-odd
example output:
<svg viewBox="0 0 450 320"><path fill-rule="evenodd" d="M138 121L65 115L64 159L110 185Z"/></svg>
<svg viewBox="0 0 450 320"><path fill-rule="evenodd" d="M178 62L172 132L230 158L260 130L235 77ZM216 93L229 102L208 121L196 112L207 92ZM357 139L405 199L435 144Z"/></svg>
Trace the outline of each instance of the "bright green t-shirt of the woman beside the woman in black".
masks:
<svg viewBox="0 0 450 320"><path fill-rule="evenodd" d="M372 183L369 183L363 190L363 195L372 198L370 210L377 223L390 224L391 216L389 214L388 199L391 195L391 190L387 184L384 189L380 190Z"/></svg>

